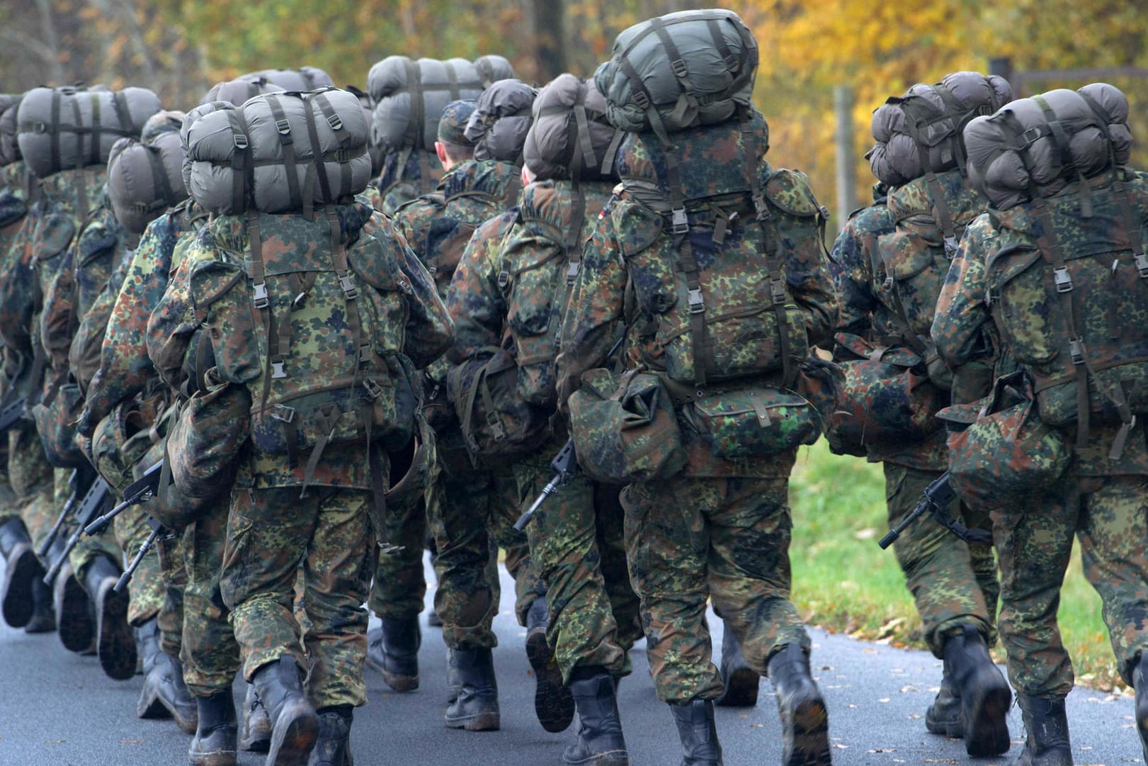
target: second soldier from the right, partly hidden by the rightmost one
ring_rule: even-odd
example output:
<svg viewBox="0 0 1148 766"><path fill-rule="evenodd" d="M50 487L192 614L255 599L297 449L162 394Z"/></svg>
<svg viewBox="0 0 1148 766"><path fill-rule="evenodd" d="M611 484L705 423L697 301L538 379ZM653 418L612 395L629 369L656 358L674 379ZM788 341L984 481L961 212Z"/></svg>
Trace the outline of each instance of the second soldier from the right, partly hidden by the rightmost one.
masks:
<svg viewBox="0 0 1148 766"><path fill-rule="evenodd" d="M952 98L943 99L941 91ZM929 378L928 359L934 356L929 350L931 340L926 333L917 334L932 323L937 293L948 266L946 254L934 253L941 248L926 242L945 241L940 220L951 222L955 242L964 225L987 206L961 170L964 147L960 127L976 116L978 108L1000 106L1008 98L1008 84L1002 78L957 72L934 86L915 85L905 96L891 99L874 113L878 144L868 156L881 178L874 187L875 202L850 216L830 256L840 303L835 358L846 376L871 370L869 359L910 354L916 361L918 390L936 390L937 410L948 404L949 381L946 376ZM930 148L918 149L912 140L917 130L915 121L946 116L952 125L948 136L941 138L934 131ZM891 123L899 131L891 131ZM948 148L947 154L938 150L941 144ZM937 154L944 158L933 164ZM895 189L890 184L897 184ZM912 235L920 227L936 233ZM903 274L910 270L898 264L908 257L930 265L912 274L913 284L906 286ZM861 372L851 363L859 357L864 359ZM893 389L891 385L886 393ZM970 396L960 389L954 395ZM883 411L870 407L869 417L876 419ZM856 446L870 462L882 463L890 527L913 511L925 487L948 467L945 431L934 415L936 410L929 413L926 435L891 428L878 438L877 430L870 427L864 443ZM964 505L957 518L969 527L988 523L987 509L975 511ZM1004 717L1009 693L988 655L988 644L995 639L1000 591L991 547L954 539L941 525L923 519L905 531L894 550L921 614L925 641L944 660L941 688L925 711L925 727L933 734L964 737L971 756L1003 752L1008 749Z"/></svg>

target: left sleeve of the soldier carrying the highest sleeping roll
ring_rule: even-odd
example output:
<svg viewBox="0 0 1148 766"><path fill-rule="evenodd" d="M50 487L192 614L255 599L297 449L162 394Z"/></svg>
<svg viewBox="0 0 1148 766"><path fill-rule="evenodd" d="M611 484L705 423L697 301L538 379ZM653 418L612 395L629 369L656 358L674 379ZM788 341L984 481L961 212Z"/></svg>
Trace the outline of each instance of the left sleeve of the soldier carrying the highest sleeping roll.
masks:
<svg viewBox="0 0 1148 766"><path fill-rule="evenodd" d="M582 249L574 291L571 294L558 345L558 401L566 400L581 384L582 373L602 366L623 322L626 269L614 230L611 199L598 216L594 233Z"/></svg>

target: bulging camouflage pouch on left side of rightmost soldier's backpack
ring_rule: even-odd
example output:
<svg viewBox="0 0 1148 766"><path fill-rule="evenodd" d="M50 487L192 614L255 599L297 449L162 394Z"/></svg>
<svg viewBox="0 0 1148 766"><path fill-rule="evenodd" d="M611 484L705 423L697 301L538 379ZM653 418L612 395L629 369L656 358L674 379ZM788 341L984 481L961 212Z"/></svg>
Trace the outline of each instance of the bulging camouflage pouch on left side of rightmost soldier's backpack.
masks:
<svg viewBox="0 0 1148 766"><path fill-rule="evenodd" d="M1068 469L1072 448L1037 415L1032 388L1019 373L998 379L975 404L940 411L951 424L948 473L954 492L972 508L1027 503L1048 492Z"/></svg>

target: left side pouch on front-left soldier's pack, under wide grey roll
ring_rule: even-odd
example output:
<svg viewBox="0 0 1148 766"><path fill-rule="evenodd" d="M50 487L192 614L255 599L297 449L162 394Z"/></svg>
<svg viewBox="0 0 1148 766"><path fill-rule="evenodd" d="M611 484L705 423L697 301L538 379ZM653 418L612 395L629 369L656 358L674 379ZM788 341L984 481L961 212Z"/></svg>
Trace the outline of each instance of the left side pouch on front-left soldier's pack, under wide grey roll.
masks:
<svg viewBox="0 0 1148 766"><path fill-rule="evenodd" d="M207 498L231 488L250 412L250 394L233 384L210 382L184 403L168 433L171 479L180 494Z"/></svg>

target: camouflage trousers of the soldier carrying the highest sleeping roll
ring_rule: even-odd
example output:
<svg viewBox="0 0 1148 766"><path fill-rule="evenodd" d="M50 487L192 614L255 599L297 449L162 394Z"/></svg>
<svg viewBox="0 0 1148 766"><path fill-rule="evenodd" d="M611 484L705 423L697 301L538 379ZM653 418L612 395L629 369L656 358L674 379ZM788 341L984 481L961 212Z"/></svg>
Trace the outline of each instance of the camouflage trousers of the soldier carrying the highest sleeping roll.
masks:
<svg viewBox="0 0 1148 766"><path fill-rule="evenodd" d="M808 650L790 602L788 479L675 477L630 485L622 505L659 699L712 699L723 690L712 661L707 598L761 675L775 649L796 643Z"/></svg>

